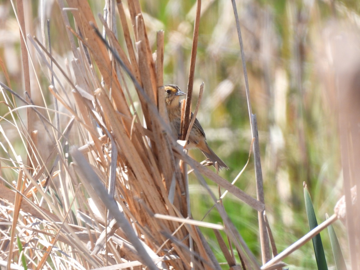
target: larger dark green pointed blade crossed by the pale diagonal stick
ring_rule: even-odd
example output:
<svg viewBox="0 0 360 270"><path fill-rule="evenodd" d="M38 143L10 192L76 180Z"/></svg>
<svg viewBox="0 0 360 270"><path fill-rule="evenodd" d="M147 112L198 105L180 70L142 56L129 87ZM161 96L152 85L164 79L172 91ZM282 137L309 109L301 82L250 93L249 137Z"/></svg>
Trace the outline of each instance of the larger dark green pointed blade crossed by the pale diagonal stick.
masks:
<svg viewBox="0 0 360 270"><path fill-rule="evenodd" d="M305 182L304 182L304 197L305 197L307 220L309 221L310 230L312 230L316 226L318 226L318 222L316 221L314 207L312 206L310 193L309 193L309 190L307 189ZM318 234L314 238L312 238L312 245L314 246L316 264L318 265L318 269L321 269L321 270L328 269L326 259L325 259L323 243L321 242L320 234Z"/></svg>

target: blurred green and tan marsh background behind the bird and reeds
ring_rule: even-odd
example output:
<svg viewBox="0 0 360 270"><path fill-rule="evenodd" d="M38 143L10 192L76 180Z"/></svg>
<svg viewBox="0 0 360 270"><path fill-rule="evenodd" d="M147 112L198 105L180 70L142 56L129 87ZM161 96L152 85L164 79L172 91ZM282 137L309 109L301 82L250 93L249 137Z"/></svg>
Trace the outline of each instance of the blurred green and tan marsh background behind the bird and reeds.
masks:
<svg viewBox="0 0 360 270"><path fill-rule="evenodd" d="M98 18L97 14L103 13L104 1L89 2ZM196 2L140 2L153 50L156 50L156 31L165 31L165 84L177 84L186 91ZM334 205L342 195L331 44L333 40L342 42L343 33L357 35L360 2L244 0L236 3L252 112L257 115L266 213L277 248L282 251L309 231L303 181L310 190L319 223L325 220L325 213L333 213ZM42 15L50 19L53 55L71 74L71 66L67 67L72 60L67 58L71 48L57 1L24 1L27 32L41 38L41 5L46 10ZM222 171L221 176L232 181L247 162L252 140L235 18L230 0L204 0L201 14L193 108L199 86L204 82L197 118L211 148L230 167L230 170ZM119 42L126 48L117 23ZM99 21L98 25L101 26ZM19 80L23 78L19 29L10 1L0 2L0 31L0 57L9 73L11 88L23 96L24 83ZM36 105L46 103L49 108L54 108L52 96L46 91L50 84L47 70L41 66L32 46L30 51L40 78L39 84L35 79L31 81L32 99ZM0 72L0 81L6 82L3 72ZM36 91L39 87L48 96L42 98L41 92ZM1 116L7 111L3 106L4 103L0 103ZM60 110L65 112L64 108ZM26 119L25 109L19 109L19 114L20 118ZM1 126L10 138L11 132L17 133L6 121L2 121ZM16 148L16 138L13 140ZM44 147L47 143L44 139ZM19 143L15 152L25 158L22 146ZM198 161L204 159L198 150L191 150L190 155ZM8 173L10 177L11 172ZM237 185L256 197L253 156ZM217 186L212 186L217 194ZM193 217L201 220L212 202L191 174L190 193ZM224 207L248 246L258 255L257 213L231 195L225 197ZM221 221L216 211L211 211L204 220ZM345 226L336 222L334 227L348 259ZM211 243L215 235L211 230L203 231ZM328 265L332 266L327 232L321 233L321 237ZM222 252L219 251L218 256L219 261L225 261L221 258ZM307 243L284 262L293 265L291 269L315 269L312 244Z"/></svg>

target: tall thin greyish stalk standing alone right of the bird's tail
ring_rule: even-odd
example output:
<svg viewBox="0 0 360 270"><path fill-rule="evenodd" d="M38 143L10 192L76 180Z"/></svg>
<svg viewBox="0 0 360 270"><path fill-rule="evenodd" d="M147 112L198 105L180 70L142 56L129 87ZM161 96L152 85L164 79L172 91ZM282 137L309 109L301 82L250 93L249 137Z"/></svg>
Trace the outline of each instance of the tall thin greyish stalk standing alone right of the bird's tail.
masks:
<svg viewBox="0 0 360 270"><path fill-rule="evenodd" d="M263 189L263 185L262 185L260 150L258 147L258 132L257 132L257 125L256 125L256 123L254 123L254 120L256 121L256 116L252 114L252 109L251 109L249 82L248 82L248 76L247 76L245 53L244 53L242 36L241 36L238 11L237 11L235 0L231 0L231 3L233 4L235 22L236 22L236 27L237 27L237 31L238 31L238 38L239 38L240 51L241 51L241 60L242 60L242 64L243 64L244 79L245 79L246 99L247 99L249 118L250 118L251 133L252 133L252 137L255 138L255 143L253 145L253 148L254 148L254 157L255 157L256 195L257 195L257 199L259 201L261 201L262 203L264 203L265 200L264 200L264 189ZM258 220L259 220L259 230L260 230L261 257L262 257L262 263L264 264L265 262L270 260L270 248L269 248L269 238L267 235L266 226L265 226L265 222L264 222L264 216L263 216L262 212L258 213Z"/></svg>

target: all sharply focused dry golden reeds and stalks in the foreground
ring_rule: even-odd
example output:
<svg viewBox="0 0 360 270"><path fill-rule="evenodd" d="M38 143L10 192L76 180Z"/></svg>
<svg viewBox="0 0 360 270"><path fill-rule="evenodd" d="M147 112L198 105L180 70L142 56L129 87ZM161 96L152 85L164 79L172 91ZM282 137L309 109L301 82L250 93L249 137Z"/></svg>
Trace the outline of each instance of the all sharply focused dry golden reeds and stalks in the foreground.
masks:
<svg viewBox="0 0 360 270"><path fill-rule="evenodd" d="M46 39L50 42L50 35L45 38L44 23L42 42L26 35L20 0L16 9L19 27L22 37L29 41L26 47L21 39L26 99L11 90L6 67L0 59L8 83L8 86L1 83L8 108L2 121L12 125L27 151L27 161L22 161L12 138L8 138L1 127L11 151L1 160L1 167L2 171L11 168L12 172L6 176L1 172L0 265L8 269L143 269L145 266L147 269L221 269L206 236L199 230L199 227L206 227L213 229L228 267L240 269L240 261L246 269L260 269L258 259L222 206L226 193L258 212L261 269L280 268L284 265L283 258L315 235L316 230L313 230L276 256L275 241L265 213L256 117L252 114L247 78L257 199L234 185L238 177L233 183L223 179L218 171L187 156L184 148L172 138L162 88L166 53L164 32L157 32L156 51L153 52L139 1L126 4L109 1L112 5L107 18L99 16L98 20L88 1L68 0L68 8L62 1L58 2L72 49L71 63L60 63L51 53L51 46L45 45ZM185 141L193 124L189 116L200 7L198 0L188 96L182 104L181 138ZM233 8L236 17L235 1ZM68 18L70 14L75 26L69 22L72 21ZM116 29L116 16L119 16L121 31ZM97 21L101 22L100 26ZM242 47L238 18L236 23ZM117 32L123 34L121 39L125 41L126 50L122 49ZM28 70L27 58L28 53L33 55L32 50L49 73L47 90L54 97L54 109L33 104L36 87L30 81L37 81L39 89L41 86L39 74ZM36 63L35 59L31 58L31 63ZM245 64L244 74L247 74ZM45 91L40 92L44 94ZM26 107L17 105L14 95ZM18 113L22 108L26 108L27 125ZM45 145L50 145L48 150L44 149ZM5 149L8 148L3 147ZM188 165L192 170L188 171ZM223 224L192 219L189 173L194 173L207 190ZM9 175L16 176L17 181L5 181L11 179ZM226 191L213 194L204 177ZM326 228L336 218L332 216L317 229ZM220 230L225 233L226 241ZM16 242L17 237L21 246ZM269 242L276 257L265 264L271 259Z"/></svg>

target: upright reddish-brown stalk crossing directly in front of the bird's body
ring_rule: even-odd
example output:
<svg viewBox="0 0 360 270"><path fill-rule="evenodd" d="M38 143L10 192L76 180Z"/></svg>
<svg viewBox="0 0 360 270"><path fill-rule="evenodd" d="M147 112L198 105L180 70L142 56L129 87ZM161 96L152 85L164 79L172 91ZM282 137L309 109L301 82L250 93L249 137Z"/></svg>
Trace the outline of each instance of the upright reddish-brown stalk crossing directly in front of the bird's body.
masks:
<svg viewBox="0 0 360 270"><path fill-rule="evenodd" d="M186 103L185 103L184 118L181 119L182 120L181 122L183 122L183 126L182 126L182 129L180 131L181 140L185 140L186 131L188 131L189 122L190 122L191 96L192 96L192 93L193 93L194 74L195 74L195 61L196 61L196 53L197 53L197 48L198 48L200 12L201 12L201 0L197 0L196 17L195 17L195 23L194 23L193 46L192 46L192 49L191 49L191 57L190 57L188 91L186 92Z"/></svg>

